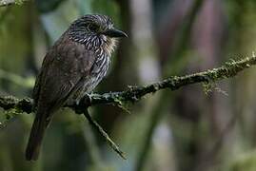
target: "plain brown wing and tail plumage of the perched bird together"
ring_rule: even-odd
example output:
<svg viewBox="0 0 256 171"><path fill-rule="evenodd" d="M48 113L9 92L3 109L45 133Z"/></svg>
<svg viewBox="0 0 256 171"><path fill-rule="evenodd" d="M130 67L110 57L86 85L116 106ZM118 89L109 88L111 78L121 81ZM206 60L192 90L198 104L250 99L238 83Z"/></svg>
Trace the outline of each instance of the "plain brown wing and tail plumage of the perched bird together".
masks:
<svg viewBox="0 0 256 171"><path fill-rule="evenodd" d="M64 34L50 48L33 92L37 113L32 125L26 159L36 160L52 114L89 79L96 55Z"/></svg>

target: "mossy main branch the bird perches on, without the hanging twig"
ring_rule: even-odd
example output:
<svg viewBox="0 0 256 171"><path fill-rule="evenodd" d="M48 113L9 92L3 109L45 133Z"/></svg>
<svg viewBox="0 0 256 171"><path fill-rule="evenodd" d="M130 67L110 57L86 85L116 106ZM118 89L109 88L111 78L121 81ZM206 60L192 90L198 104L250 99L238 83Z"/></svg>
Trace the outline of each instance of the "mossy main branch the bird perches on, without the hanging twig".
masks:
<svg viewBox="0 0 256 171"><path fill-rule="evenodd" d="M253 54L250 58L244 58L239 61L232 60L231 62L226 62L225 66L208 69L204 72L198 72L185 76L172 76L151 85L128 86L128 90L125 91L108 92L105 94L91 94L89 95L89 98L88 96L85 96L84 99L87 99L87 101L82 101L80 102L80 104L69 104L67 106L76 110L83 106L88 107L96 104L122 105L123 103L127 102L135 103L137 101L140 101L146 95L154 93L161 89L168 88L173 91L186 85L198 83L211 84L216 81L234 77L239 72L254 65L256 65L256 57ZM4 110L16 109L16 111L19 113L31 113L32 104L33 103L30 98L17 99L12 96L0 97L0 107L2 107Z"/></svg>

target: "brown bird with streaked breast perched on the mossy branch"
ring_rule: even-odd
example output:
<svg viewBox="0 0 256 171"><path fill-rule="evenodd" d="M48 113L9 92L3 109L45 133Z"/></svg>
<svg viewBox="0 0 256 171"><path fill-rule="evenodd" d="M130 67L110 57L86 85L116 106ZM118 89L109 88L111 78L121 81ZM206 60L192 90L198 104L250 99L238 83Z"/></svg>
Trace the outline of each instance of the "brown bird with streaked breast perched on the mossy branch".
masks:
<svg viewBox="0 0 256 171"><path fill-rule="evenodd" d="M32 92L35 118L26 148L26 160L36 161L53 114L63 105L79 102L106 76L118 38L108 15L86 14L73 21L49 47Z"/></svg>

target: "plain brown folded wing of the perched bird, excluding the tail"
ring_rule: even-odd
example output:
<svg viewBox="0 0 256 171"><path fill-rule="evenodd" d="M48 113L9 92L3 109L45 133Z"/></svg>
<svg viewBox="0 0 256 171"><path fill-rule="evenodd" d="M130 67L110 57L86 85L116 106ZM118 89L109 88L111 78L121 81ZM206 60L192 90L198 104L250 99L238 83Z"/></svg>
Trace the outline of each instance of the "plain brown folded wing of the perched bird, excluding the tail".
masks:
<svg viewBox="0 0 256 171"><path fill-rule="evenodd" d="M69 96L89 79L95 54L83 44L67 36L51 47L37 78L33 98L38 109L49 108L49 113L65 104Z"/></svg>

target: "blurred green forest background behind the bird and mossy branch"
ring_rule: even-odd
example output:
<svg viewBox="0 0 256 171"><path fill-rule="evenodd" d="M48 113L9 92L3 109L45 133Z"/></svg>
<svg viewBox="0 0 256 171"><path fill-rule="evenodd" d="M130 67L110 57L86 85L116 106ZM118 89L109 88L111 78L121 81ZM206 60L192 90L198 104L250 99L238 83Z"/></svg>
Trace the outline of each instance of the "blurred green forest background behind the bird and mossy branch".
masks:
<svg viewBox="0 0 256 171"><path fill-rule="evenodd" d="M1 1L0 1L1 2ZM146 85L220 66L256 47L255 0L34 0L0 7L0 93L30 97L47 49L87 13L128 32L95 92ZM255 39L255 40L254 40ZM1 171L254 171L256 69L204 86L150 94L90 113L126 152L123 161L83 116L61 109L38 161L25 161L33 115L0 116ZM223 92L225 91L225 92ZM10 115L15 117L8 119Z"/></svg>

